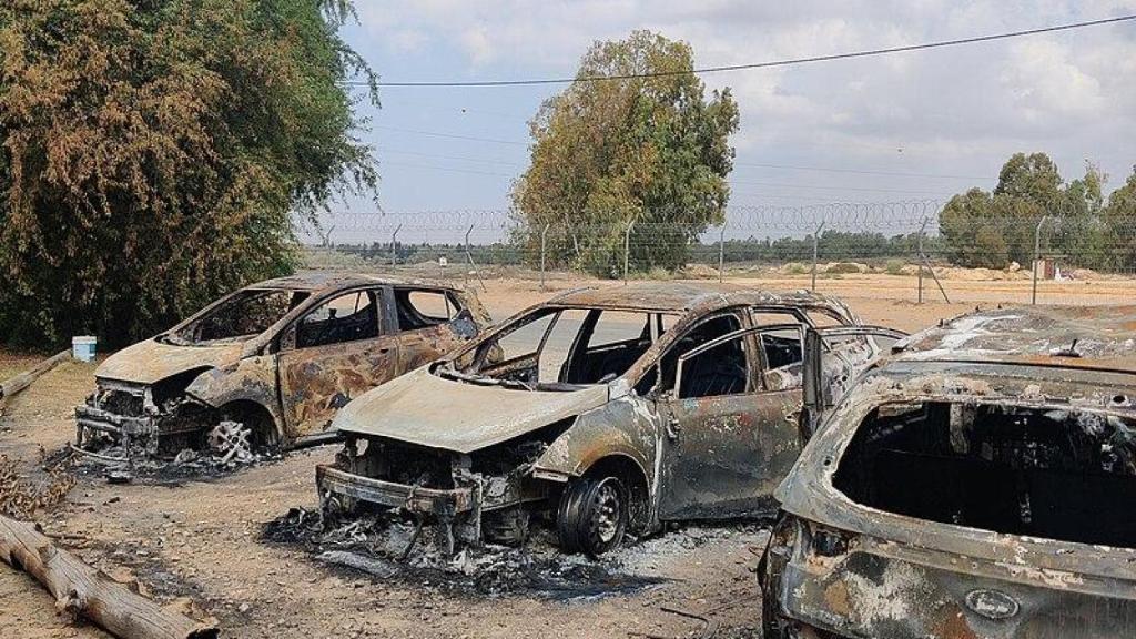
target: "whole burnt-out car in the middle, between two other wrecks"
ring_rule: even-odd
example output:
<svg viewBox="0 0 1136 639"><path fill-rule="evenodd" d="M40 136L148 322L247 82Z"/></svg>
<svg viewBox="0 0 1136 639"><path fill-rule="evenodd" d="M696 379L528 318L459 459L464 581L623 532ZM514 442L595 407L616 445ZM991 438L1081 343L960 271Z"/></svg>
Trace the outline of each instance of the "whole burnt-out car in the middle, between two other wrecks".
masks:
<svg viewBox="0 0 1136 639"><path fill-rule="evenodd" d="M344 448L317 467L325 520L394 509L452 551L519 542L536 516L596 556L663 522L767 513L802 445L804 331L857 323L807 292L568 292L340 412ZM876 348L829 349L827 379Z"/></svg>

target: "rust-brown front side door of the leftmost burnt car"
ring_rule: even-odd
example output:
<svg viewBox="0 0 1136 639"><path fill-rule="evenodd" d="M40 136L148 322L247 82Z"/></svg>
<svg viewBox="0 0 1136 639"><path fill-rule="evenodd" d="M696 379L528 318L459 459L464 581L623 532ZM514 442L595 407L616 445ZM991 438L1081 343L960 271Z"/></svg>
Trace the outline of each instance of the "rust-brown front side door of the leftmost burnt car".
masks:
<svg viewBox="0 0 1136 639"><path fill-rule="evenodd" d="M350 340L344 342L333 342L314 347L296 347L296 333L299 324L309 314L318 309L324 304L340 297L374 291L376 296L376 321L378 323L377 335L369 339ZM393 315L393 291L387 284L360 284L344 289L337 289L311 300L303 312L299 313L277 335L276 339L276 383L279 392L281 415L283 417L283 430L286 437L294 441L312 441L321 439L334 439L335 433L327 431L332 418L339 408L353 399L350 395L357 391L356 396L362 395L374 388L393 379L400 371L399 363L401 354L399 348L398 332L390 332L391 326L396 326L396 318ZM360 366L350 368L328 371L320 367L318 356L315 352L307 354L307 357L299 355L299 351L314 351L323 349L328 356L337 357L345 362L358 360ZM295 359L295 362L292 362ZM364 363L364 360L368 360ZM334 359L333 359L334 360ZM303 366L308 372L319 379L310 380L304 388L293 388L290 383L289 368L292 366ZM358 368L374 371L378 375L366 377L362 383L356 383L358 389L349 389L348 393L343 389L335 387L336 375L344 375L343 379L354 379L358 376ZM394 373L385 374L384 372ZM382 379L385 376L385 380ZM298 412L304 401L326 403L324 406L309 408L306 413ZM320 426L323 423L323 428Z"/></svg>

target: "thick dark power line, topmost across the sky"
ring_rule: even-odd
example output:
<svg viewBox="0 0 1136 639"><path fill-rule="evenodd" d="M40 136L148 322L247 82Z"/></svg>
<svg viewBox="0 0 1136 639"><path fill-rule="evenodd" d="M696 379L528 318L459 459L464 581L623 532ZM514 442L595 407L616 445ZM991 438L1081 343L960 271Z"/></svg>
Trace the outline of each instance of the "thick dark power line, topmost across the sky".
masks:
<svg viewBox="0 0 1136 639"><path fill-rule="evenodd" d="M936 42L924 42L921 44L907 44L903 47L888 47L884 49L868 49L863 51L850 51L844 53L829 53L827 56L809 56L805 58L790 58L784 60L771 60L765 63L752 63L744 65L724 65L715 67L703 67L691 70L660 70L651 73L629 73L619 75L585 75L579 77L545 77L527 80L475 80L475 81L444 81L444 82L376 82L378 86L521 86L537 84L571 84L575 82L605 82L611 80L637 80L646 77L669 77L675 75L722 73L734 70L751 70L759 68L784 67L791 65L803 65L810 63L827 63L832 60L846 60L852 58L867 58L872 56L886 56L891 53L904 53L909 51L922 51L927 49L939 49L944 47L958 47L961 44L975 44L978 42L992 42L995 40L1008 40L1011 38L1022 38L1042 33L1053 33L1059 31L1070 31L1105 24L1114 24L1136 19L1136 14L1102 18L1096 20L1085 20L1041 28L1029 28L1024 31L1012 31L1009 33L995 33L991 35L976 35L971 38L959 38L955 40L939 40ZM343 84L352 86L369 86L364 81L344 81Z"/></svg>

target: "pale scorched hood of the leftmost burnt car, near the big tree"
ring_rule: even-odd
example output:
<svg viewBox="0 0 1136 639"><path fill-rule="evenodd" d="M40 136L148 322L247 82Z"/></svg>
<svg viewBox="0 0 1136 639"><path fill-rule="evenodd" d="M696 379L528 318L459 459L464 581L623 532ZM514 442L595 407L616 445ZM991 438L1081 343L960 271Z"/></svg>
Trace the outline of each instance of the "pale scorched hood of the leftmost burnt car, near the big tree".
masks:
<svg viewBox="0 0 1136 639"><path fill-rule="evenodd" d="M194 368L216 368L241 358L242 343L174 346L147 340L111 355L94 372L99 379L152 384Z"/></svg>

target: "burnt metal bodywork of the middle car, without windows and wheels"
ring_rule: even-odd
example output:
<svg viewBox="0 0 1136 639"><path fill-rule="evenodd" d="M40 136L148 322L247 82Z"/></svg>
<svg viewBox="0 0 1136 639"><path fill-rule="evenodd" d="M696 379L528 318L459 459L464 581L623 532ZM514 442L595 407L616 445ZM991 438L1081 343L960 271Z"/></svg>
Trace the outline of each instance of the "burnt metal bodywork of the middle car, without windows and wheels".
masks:
<svg viewBox="0 0 1136 639"><path fill-rule="evenodd" d="M643 343L645 351L634 351L634 363L619 360L628 368L609 373L613 379L537 380L531 376L538 371L537 355L516 354L504 363L485 355L494 340L531 317L565 309L679 317L661 335L662 320L648 317L644 334L650 332L651 341ZM344 407L333 425L346 445L337 457L334 479L320 474L321 503L325 508L350 504L350 499L390 506L391 491L410 495L415 487L468 487L473 489L469 513L444 522L473 531L477 541L483 517L491 522L490 529L496 529L492 522L508 520L493 520L492 514L516 507L549 508L550 500L575 480L596 468L615 468L610 472L620 473L635 499L642 499L629 517L638 532L658 528L662 518L767 512L775 484L801 446L800 373L786 368L777 377L759 376L766 362L755 339L746 334L737 338L745 340L749 364L749 390L743 395L684 400L637 388L646 375L661 371L662 356L678 348L678 340L690 331L725 316L734 320L730 324L736 329L749 329L751 312L786 315L791 322L795 317L802 326L810 325L810 312L825 313L842 324L857 322L843 304L824 296L742 287L650 284L561 296ZM585 350L568 354L562 371L573 357L586 352L590 330L594 320L571 340L574 349ZM548 333L541 345L546 340ZM855 357L845 363L854 370L849 373L867 365L867 357L851 355ZM477 370L467 374L467 367ZM770 381L776 382L774 388ZM352 484L350 478L359 481ZM382 495L365 495L360 489L365 480L383 482Z"/></svg>

